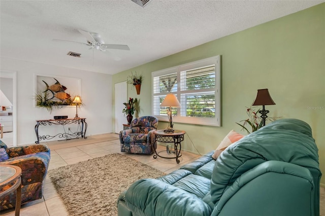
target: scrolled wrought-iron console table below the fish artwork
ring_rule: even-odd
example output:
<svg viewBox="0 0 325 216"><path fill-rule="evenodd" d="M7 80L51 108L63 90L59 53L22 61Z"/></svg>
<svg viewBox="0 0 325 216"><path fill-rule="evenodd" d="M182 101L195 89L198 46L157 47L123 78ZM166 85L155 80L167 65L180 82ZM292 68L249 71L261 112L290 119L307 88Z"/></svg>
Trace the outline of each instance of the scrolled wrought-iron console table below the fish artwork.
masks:
<svg viewBox="0 0 325 216"><path fill-rule="evenodd" d="M68 131L68 133L66 133L64 131L64 133L58 133L54 136L51 135L39 135L39 126L43 125L43 126L47 126L47 125L69 125L69 124L78 124L79 126L81 125L81 129L80 131L77 130L77 132L74 133L70 133L70 131ZM52 139L56 136L58 136L59 138L66 138L68 139L69 136L70 137L74 137L74 138L78 138L79 136L83 137L83 138L87 138L86 137L86 130L87 130L87 123L86 123L86 118L76 118L76 119L47 119L47 120L36 120L36 125L35 125L35 133L36 133L36 137L37 140L35 141L35 143L40 143L40 140L42 139Z"/></svg>

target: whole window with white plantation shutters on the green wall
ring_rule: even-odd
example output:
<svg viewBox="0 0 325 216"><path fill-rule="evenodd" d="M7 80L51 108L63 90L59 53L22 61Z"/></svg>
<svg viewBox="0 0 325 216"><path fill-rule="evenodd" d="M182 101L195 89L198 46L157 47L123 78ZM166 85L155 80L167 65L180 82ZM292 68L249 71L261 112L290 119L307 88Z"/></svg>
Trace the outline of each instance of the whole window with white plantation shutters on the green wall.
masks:
<svg viewBox="0 0 325 216"><path fill-rule="evenodd" d="M168 121L167 108L160 106L168 93L181 107L172 107L173 121L220 126L220 56L152 73L152 115Z"/></svg>

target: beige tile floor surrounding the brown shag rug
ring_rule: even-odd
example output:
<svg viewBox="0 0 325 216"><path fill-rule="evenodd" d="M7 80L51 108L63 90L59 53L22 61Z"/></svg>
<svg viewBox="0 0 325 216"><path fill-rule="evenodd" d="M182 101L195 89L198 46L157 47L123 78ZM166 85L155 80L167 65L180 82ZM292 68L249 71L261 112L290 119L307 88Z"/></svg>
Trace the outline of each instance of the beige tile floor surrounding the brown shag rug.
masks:
<svg viewBox="0 0 325 216"><path fill-rule="evenodd" d="M102 134L89 136L87 139L70 139L64 141L50 141L46 145L51 149L49 170L68 164L78 163L91 158L102 157L107 154L120 153L118 134ZM157 151L164 153L166 148L158 146ZM124 154L149 166L166 173L178 169L183 164L196 160L199 155L182 151L180 164L175 159L153 159L153 155ZM0 212L0 215L12 216L14 209ZM56 193L49 178L46 178L43 199L23 204L21 216L65 216L68 215L61 198ZM320 216L325 216L325 189L320 188Z"/></svg>

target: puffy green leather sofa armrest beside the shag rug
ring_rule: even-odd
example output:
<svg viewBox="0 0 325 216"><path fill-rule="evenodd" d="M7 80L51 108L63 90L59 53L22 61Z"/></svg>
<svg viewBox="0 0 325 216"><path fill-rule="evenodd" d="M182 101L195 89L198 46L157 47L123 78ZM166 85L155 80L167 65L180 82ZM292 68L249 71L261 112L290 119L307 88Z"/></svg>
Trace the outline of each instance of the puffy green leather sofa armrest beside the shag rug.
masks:
<svg viewBox="0 0 325 216"><path fill-rule="evenodd" d="M212 209L195 195L157 179L141 179L128 188L126 207L136 215L210 215Z"/></svg>

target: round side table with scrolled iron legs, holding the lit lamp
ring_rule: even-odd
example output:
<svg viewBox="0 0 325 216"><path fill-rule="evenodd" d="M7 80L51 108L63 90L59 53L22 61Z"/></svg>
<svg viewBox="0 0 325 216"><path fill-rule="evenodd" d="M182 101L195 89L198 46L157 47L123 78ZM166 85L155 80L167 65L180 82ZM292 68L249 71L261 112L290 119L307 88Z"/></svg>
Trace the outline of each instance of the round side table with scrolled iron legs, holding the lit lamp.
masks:
<svg viewBox="0 0 325 216"><path fill-rule="evenodd" d="M156 152L156 149L154 149L155 155L153 156L154 159L156 159L157 157L160 158L167 158L167 159L173 159L176 158L176 162L179 163L179 157L181 157L182 155L181 153L181 141L184 140L184 134L186 133L184 130L175 130L174 132L170 133L170 132L164 132L164 130L155 130L153 131L153 133L156 135L156 142L172 142L174 143L174 150L175 152L175 157L164 157L164 156L160 156L158 153L160 152ZM179 151L178 151L178 145L179 145Z"/></svg>

